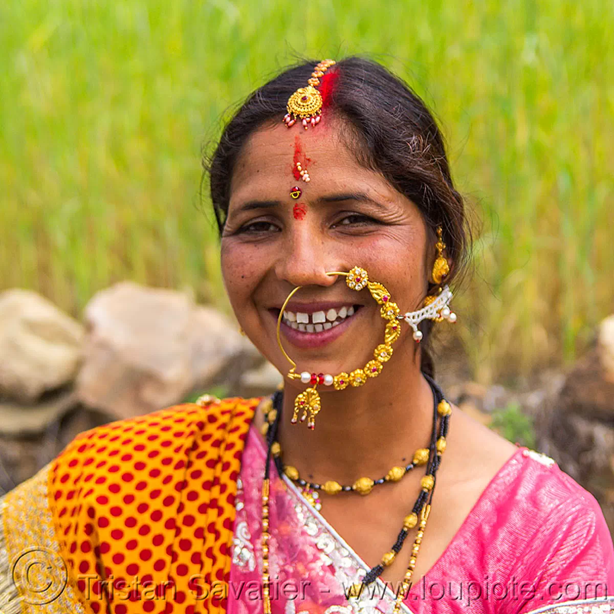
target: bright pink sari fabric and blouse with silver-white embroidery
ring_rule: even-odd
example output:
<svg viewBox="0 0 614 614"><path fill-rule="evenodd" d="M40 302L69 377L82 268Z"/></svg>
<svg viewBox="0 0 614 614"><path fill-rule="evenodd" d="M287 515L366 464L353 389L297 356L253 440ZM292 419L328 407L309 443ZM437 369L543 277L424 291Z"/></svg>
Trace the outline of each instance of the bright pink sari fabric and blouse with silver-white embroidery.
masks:
<svg viewBox="0 0 614 614"><path fill-rule="evenodd" d="M265 447L247 438L236 499L228 614L261 614L261 486ZM390 614L378 580L349 587L368 565L294 484L271 469L273 614ZM601 614L614 591L614 548L594 497L552 459L526 448L503 465L435 565L414 585L405 614Z"/></svg>

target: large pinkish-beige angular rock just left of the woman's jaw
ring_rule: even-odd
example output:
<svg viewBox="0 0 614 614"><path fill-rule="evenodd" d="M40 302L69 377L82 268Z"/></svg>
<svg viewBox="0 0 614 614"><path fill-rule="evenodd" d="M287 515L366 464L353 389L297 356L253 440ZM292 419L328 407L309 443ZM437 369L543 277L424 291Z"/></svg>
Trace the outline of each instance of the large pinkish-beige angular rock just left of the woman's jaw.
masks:
<svg viewBox="0 0 614 614"><path fill-rule="evenodd" d="M92 298L76 382L80 402L115 418L183 402L223 384L262 358L222 314L173 290L122 282Z"/></svg>

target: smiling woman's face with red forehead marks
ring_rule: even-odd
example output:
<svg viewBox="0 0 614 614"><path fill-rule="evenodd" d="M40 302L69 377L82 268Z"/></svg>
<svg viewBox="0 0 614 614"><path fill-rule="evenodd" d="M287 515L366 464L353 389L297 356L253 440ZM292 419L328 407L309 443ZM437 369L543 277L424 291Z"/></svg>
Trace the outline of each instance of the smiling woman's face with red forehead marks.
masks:
<svg viewBox="0 0 614 614"><path fill-rule="evenodd" d="M258 130L231 182L223 279L239 324L282 373L290 364L276 342L276 325L295 286L303 288L286 306L284 348L298 373L331 375L371 360L385 322L367 289L351 290L346 278L327 271L365 268L402 313L419 308L427 290L427 231L418 208L357 163L339 126L324 118L309 130L281 122ZM296 161L309 182L295 179ZM411 349L413 359L414 343L403 330L395 354Z"/></svg>

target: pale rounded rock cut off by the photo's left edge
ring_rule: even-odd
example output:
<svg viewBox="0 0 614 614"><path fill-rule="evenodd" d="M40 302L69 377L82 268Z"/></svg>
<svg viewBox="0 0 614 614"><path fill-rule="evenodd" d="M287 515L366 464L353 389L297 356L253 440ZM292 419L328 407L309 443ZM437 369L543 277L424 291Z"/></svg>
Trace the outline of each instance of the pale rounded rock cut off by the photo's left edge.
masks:
<svg viewBox="0 0 614 614"><path fill-rule="evenodd" d="M29 290L0 294L0 396L32 403L79 368L82 326Z"/></svg>

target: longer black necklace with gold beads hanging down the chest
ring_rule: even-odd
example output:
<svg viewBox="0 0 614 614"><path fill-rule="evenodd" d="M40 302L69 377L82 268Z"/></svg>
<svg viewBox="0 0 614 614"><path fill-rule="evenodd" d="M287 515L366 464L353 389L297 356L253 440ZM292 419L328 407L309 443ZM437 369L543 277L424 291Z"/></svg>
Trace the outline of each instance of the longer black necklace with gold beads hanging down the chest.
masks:
<svg viewBox="0 0 614 614"><path fill-rule="evenodd" d="M359 585L356 588L357 595L360 594L362 587L365 585L369 585L373 581L375 581L381 573L383 573L384 569L391 565L395 559L395 556L400 552L403 547L403 543L405 543L405 539L407 538L410 529L419 524L418 536L416 537L416 541L414 542L410 564L408 566L408 570L405 574L405 578L403 580L402 590L397 596L397 604L395 605L395 610L398 611L398 607L403 597L406 594L406 591L411 586L411 575L413 574L413 568L416 564L416 555L418 554L419 546L422 540L422 534L424 534L424 527L426 526L426 520L430 511L430 504L433 499L433 492L435 492L435 482L437 478L437 470L441 464L441 455L443 451L445 451L446 447L446 436L448 435L449 428L449 418L451 413L451 407L449 403L443 397L443 392L435 381L430 378L426 374L422 374L426 379L427 383L430 386L430 389L433 393L433 424L431 430L430 444L429 444L429 460L426 464L426 473L422 477L421 480L421 491L418 495L418 499L413 505L411 513L408 516L405 516L403 519L402 529L398 532L397 539L392 545L391 550L389 550L386 554L384 554L381 562L375 565L375 567L371 567L370 570L365 574L362 580L362 586ZM284 465L281 461L281 458L277 455L273 454L273 445L277 442L277 433L279 428L279 420L281 418L282 406L283 406L283 392L277 391L273 395L273 410L275 410L274 420L269 425L266 430L266 463L265 463L265 476L264 482L265 486L263 486L263 502L265 502L266 498L266 517L263 516L263 531L266 533L265 539L263 543L266 546L266 575L263 578L264 584L266 588L266 594L268 596L268 485L270 479L270 464L271 459L274 461L274 465L279 474L279 478L283 479L284 476ZM439 424L438 424L439 422ZM265 492L266 491L266 492ZM356 596L357 596L356 595ZM265 608L266 610L267 608Z"/></svg>

